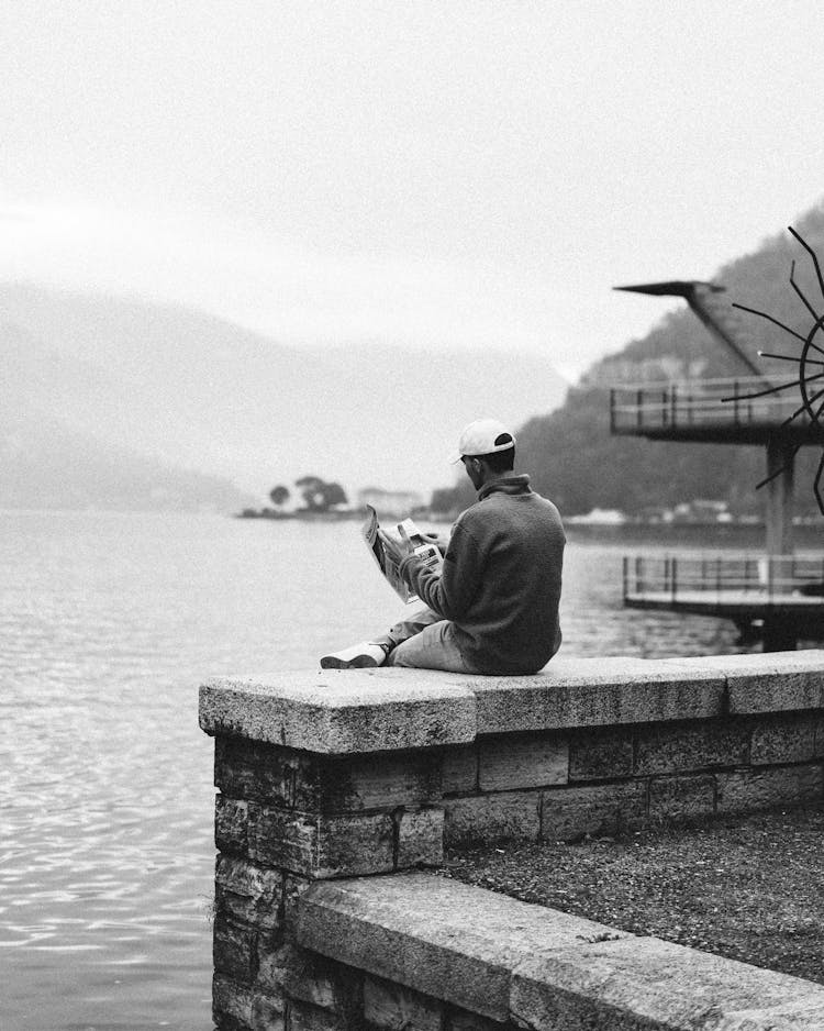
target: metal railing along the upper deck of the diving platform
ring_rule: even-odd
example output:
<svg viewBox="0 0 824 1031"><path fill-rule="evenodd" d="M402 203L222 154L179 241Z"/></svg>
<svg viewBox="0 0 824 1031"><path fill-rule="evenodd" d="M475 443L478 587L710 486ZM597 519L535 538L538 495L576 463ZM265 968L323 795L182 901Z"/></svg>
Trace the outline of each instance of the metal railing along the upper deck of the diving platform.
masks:
<svg viewBox="0 0 824 1031"><path fill-rule="evenodd" d="M778 426L801 403L799 389L766 393L773 384L757 376L625 384L610 390L610 429L613 433L701 426ZM722 400L725 399L725 400ZM808 421L806 415L800 417Z"/></svg>

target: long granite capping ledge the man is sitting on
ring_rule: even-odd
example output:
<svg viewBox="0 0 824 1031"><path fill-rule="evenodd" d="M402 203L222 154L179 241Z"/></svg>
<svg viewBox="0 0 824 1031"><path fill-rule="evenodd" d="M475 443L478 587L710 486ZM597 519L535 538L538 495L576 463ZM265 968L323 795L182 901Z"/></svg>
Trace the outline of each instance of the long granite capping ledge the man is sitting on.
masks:
<svg viewBox="0 0 824 1031"><path fill-rule="evenodd" d="M472 742L480 734L824 708L824 651L643 659L557 657L534 676L347 669L221 678L200 725L325 754Z"/></svg>

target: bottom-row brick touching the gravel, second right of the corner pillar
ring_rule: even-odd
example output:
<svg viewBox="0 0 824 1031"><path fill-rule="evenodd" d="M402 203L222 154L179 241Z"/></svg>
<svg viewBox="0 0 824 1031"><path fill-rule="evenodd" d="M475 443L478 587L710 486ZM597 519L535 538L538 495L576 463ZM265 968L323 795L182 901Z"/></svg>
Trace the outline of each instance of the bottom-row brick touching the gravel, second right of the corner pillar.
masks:
<svg viewBox="0 0 824 1031"><path fill-rule="evenodd" d="M545 791L541 836L574 841L584 834L615 834L643 823L646 810L646 785L641 780Z"/></svg>

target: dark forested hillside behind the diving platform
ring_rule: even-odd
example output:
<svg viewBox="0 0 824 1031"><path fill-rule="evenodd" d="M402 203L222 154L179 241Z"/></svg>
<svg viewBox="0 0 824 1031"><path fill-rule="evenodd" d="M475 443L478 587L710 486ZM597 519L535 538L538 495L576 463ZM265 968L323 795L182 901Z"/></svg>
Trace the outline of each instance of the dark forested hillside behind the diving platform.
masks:
<svg viewBox="0 0 824 1031"><path fill-rule="evenodd" d="M824 264L824 203L792 224ZM797 280L821 310L824 300L812 260L787 231L720 268L713 282L725 287L731 304L736 301L768 312L806 335L812 318L789 284L793 259ZM677 264L676 256L672 268L661 269L661 279L689 278L689 269L679 269ZM745 351L765 372L776 372L777 363L758 358L759 348L799 354L799 342L766 320L741 312L738 320ZM788 380L797 375L795 366L781 365L780 373ZM764 476L764 447L652 442L611 436L609 429L610 384L742 374L747 372L739 359L712 340L684 303L683 310L668 315L645 337L594 365L561 408L522 426L519 466L532 474L535 488L567 516L593 508L637 513L694 498L727 500L738 512L759 511L762 491L756 494L754 488ZM799 454L799 512L815 510L812 479L819 458L816 447Z"/></svg>

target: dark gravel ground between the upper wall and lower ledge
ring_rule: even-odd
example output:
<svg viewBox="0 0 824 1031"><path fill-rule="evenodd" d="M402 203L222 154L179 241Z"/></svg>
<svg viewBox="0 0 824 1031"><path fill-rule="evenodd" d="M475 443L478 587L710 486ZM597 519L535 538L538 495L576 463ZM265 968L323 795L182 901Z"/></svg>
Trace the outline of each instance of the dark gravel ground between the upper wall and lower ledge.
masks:
<svg viewBox="0 0 824 1031"><path fill-rule="evenodd" d="M824 984L824 803L579 844L452 853L444 876Z"/></svg>

